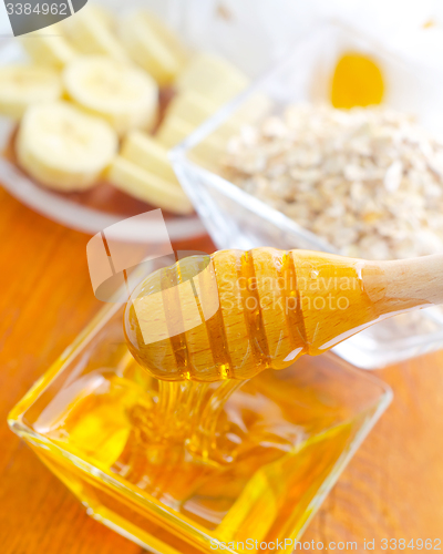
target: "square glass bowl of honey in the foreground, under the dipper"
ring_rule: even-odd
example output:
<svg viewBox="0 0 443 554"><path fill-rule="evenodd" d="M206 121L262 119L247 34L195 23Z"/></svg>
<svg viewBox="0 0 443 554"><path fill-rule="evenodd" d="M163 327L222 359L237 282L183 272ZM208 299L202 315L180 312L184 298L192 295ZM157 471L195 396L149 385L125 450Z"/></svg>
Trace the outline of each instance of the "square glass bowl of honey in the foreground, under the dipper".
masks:
<svg viewBox="0 0 443 554"><path fill-rule="evenodd" d="M121 305L109 305L95 317L11 411L11 429L92 517L150 552L300 537L388 407L390 389L332 353L305 357L245 383L226 404L230 429L229 413L245 402L246 437L265 441L261 452L231 441L225 462L197 459L194 466L187 456L174 465L169 447L165 458L152 455L146 421L158 382L128 353L122 315ZM226 552L243 552L241 544Z"/></svg>

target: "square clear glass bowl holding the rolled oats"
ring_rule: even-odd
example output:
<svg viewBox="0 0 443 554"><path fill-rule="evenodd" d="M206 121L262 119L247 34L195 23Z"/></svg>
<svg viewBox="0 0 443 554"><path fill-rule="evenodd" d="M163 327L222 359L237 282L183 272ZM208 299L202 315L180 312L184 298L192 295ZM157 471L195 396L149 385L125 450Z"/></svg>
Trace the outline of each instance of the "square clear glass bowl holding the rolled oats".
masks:
<svg viewBox="0 0 443 554"><path fill-rule="evenodd" d="M171 153L181 183L218 248L274 246L338 253L333 245L230 183L222 163L228 138L240 129L245 114L253 122L292 103L328 101L333 69L349 51L369 55L381 68L387 104L413 114L443 137L443 72L401 59L340 24L319 24L271 71ZM377 324L334 351L360 368L377 369L440 348L443 311L427 308Z"/></svg>

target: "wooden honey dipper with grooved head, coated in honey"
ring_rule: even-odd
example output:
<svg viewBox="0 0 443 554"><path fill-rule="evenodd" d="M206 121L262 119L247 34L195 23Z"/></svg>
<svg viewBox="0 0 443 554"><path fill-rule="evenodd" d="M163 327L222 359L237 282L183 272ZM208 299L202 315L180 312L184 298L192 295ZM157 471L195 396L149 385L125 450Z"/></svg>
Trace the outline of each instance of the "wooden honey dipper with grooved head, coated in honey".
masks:
<svg viewBox="0 0 443 554"><path fill-rule="evenodd" d="M150 275L124 318L135 359L163 380L249 379L319 355L387 317L443 304L443 255L365 261L257 248Z"/></svg>

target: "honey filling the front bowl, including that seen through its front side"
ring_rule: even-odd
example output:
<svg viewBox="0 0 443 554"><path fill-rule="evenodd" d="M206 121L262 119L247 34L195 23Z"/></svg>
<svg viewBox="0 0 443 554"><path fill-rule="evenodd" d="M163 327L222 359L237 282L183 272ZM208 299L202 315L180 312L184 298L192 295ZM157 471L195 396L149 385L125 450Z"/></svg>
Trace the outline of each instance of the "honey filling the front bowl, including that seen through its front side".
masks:
<svg viewBox="0 0 443 554"><path fill-rule="evenodd" d="M28 416L33 430L54 444L35 450L90 513L156 552L213 552L203 536L299 536L333 482L331 471L337 475L343 453L373 418L380 393L333 357L305 357L297 369L262 371L237 381L241 388L226 398L223 389L233 381L159 382L140 375L131 357L124 366L116 351L107 365L117 361L122 373L94 368L102 350L79 359L71 382ZM89 366L79 375L82 363ZM93 464L93 478L71 468L60 448ZM110 500L113 479L119 490Z"/></svg>

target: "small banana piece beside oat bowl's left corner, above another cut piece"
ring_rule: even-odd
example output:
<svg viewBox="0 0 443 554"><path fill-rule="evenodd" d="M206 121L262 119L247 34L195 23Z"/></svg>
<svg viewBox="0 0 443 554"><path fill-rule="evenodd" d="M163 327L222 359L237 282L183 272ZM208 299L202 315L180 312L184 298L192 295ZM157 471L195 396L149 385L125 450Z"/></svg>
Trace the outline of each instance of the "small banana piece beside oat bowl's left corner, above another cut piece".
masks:
<svg viewBox="0 0 443 554"><path fill-rule="evenodd" d="M181 186L167 157L167 148L145 133L140 131L128 133L120 154L143 170Z"/></svg>

